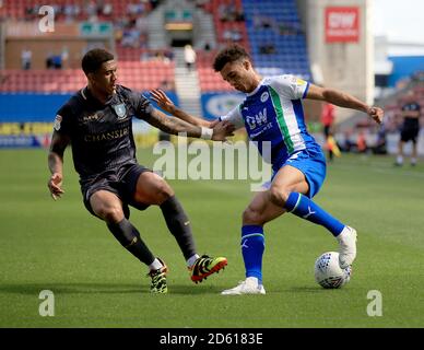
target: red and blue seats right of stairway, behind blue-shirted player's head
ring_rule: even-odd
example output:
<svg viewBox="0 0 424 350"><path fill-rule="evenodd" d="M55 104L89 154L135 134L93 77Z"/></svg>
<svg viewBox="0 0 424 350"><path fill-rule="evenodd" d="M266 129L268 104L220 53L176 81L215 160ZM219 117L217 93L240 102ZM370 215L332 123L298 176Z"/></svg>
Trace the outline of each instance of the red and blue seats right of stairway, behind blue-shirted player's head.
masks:
<svg viewBox="0 0 424 350"><path fill-rule="evenodd" d="M238 39L231 39L250 50L255 67L262 74L291 73L311 80L305 34L294 0L213 0L217 42L228 43L225 33L234 30ZM233 7L233 8L232 8ZM233 10L231 10L233 9ZM215 51L198 50L199 83L202 92L234 91L211 68Z"/></svg>

